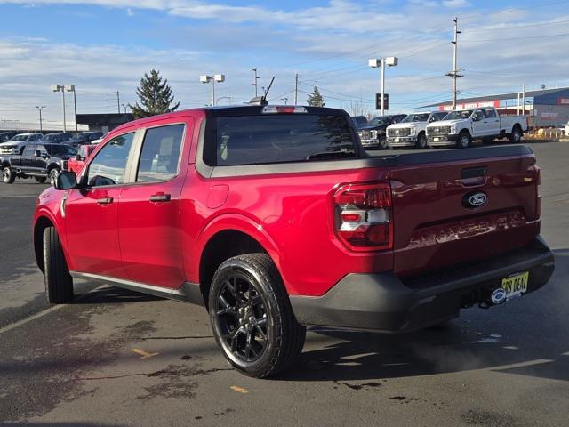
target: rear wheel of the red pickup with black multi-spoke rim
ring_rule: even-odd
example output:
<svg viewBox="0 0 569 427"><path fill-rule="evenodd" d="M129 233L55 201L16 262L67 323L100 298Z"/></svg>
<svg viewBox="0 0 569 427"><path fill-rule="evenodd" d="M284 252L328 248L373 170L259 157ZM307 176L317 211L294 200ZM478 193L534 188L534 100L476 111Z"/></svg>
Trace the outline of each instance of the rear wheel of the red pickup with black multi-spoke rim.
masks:
<svg viewBox="0 0 569 427"><path fill-rule="evenodd" d="M276 375L300 357L306 327L294 318L268 254L223 262L213 276L208 305L215 340L229 364L244 375Z"/></svg>

